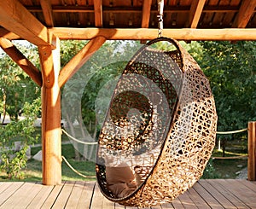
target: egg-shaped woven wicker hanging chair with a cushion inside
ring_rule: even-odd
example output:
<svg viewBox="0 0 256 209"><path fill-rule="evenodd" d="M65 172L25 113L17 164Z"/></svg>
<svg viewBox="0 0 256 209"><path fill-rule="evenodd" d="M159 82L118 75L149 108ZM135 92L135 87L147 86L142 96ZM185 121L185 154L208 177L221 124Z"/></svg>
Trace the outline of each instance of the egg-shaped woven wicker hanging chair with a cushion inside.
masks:
<svg viewBox="0 0 256 209"><path fill-rule="evenodd" d="M167 42L168 50L156 49ZM207 78L177 41L137 51L113 92L99 136L102 194L124 206L171 202L202 175L216 135Z"/></svg>

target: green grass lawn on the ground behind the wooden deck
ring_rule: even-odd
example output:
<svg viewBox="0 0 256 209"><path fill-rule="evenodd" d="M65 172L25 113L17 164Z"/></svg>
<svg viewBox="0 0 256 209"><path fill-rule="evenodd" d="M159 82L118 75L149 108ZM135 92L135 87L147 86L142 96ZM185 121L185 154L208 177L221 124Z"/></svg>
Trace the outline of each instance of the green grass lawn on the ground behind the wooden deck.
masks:
<svg viewBox="0 0 256 209"><path fill-rule="evenodd" d="M62 142L68 142L68 138L62 135ZM40 141L38 142L41 143ZM90 176L84 178L72 171L67 164L62 160L62 180L63 181L90 181L96 180L95 177L95 163L90 161L77 161L75 159L74 148L72 144L62 144L62 154L67 161L73 166L74 169L82 173L84 176ZM234 150L232 150L234 148ZM41 150L41 147L32 148L32 156L37 154ZM239 146L239 142L229 142L229 149L225 152L225 156L246 155L247 145L244 142ZM233 160L218 160L214 157L222 156L222 152L214 149L212 153L213 160L210 160L211 170L210 175L207 178L236 178L238 171L247 167L247 159L233 159ZM17 179L13 181L26 181L26 182L40 182L42 181L42 162L37 160L28 160L26 169L23 171L24 179ZM3 172L0 172L0 181L9 181Z"/></svg>

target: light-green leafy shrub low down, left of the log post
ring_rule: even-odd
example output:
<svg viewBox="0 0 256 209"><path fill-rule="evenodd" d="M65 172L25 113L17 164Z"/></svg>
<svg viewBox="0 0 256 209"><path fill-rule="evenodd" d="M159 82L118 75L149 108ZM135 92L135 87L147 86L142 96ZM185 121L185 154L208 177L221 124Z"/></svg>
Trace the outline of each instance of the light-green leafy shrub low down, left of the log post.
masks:
<svg viewBox="0 0 256 209"><path fill-rule="evenodd" d="M24 105L25 119L0 126L0 171L5 171L9 179L22 178L22 168L26 167L26 151L29 145L37 142L33 137L35 131L34 120L40 110L40 100ZM20 142L20 148L15 150L15 142Z"/></svg>

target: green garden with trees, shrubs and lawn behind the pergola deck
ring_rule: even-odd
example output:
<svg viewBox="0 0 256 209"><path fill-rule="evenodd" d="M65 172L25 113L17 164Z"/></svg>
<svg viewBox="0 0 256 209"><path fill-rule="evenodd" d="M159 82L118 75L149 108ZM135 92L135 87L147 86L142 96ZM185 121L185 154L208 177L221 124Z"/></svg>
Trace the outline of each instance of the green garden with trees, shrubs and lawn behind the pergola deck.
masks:
<svg viewBox="0 0 256 209"><path fill-rule="evenodd" d="M15 44L36 67L40 68L35 46L25 42ZM70 61L84 44L86 41L62 41L61 66ZM182 44L209 78L218 112L218 131L247 128L248 121L256 120L256 43L242 41ZM98 57L90 61L90 70L94 72L91 72L92 82L86 85L86 90L81 89L81 120L90 130L91 136L96 137L100 129L94 113L97 93L103 84L117 76L125 67L125 62L122 61L113 62L107 67L101 67L102 63L99 62L107 63L111 59L125 60L135 53L139 46L138 42L108 41L97 53ZM0 181L41 181L42 162L27 158L27 150L30 149L31 156L41 150L40 125L35 125L35 120L41 117L41 89L9 59L8 55L0 52L0 57ZM70 98L66 100L66 107L73 108L72 98L79 94L73 91L73 86L79 86L79 82L82 82L85 76L88 75L84 75L80 70L69 84L64 86L67 91L65 96ZM74 122L78 119L76 117L77 115L71 115L69 119ZM70 164L89 176L85 180L95 179L95 164L85 160L83 155L73 148L65 134L62 134L62 142L62 154ZM247 166L247 159L217 158L243 155L247 155L247 131L217 135L216 148L203 177L236 178L239 171ZM84 180L84 177L74 173L65 162L62 163L62 177L63 180Z"/></svg>

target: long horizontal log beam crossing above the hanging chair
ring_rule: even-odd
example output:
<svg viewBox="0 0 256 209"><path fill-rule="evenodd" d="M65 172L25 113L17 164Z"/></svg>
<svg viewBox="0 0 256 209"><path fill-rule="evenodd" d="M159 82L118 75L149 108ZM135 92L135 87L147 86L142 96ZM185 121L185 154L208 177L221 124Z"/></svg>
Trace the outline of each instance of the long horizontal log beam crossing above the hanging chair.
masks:
<svg viewBox="0 0 256 209"><path fill-rule="evenodd" d="M157 38L158 29L100 29L100 28L64 28L49 29L60 39L89 40L102 36L108 40L151 40ZM256 29L164 29L166 37L177 40L256 40Z"/></svg>

